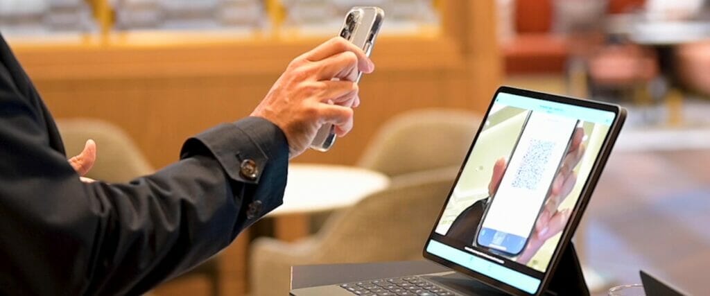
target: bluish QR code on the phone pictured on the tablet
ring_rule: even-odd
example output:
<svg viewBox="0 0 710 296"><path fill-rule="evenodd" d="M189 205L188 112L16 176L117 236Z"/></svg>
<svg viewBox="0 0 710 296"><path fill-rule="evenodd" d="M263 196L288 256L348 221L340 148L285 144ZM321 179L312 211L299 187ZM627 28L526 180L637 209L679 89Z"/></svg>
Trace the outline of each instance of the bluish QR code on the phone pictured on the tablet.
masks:
<svg viewBox="0 0 710 296"><path fill-rule="evenodd" d="M537 139L530 141L528 151L523 156L523 162L520 164L518 172L515 172L513 187L535 190L540 183L542 173L545 172L545 164L550 161L552 148L555 148L555 142Z"/></svg>

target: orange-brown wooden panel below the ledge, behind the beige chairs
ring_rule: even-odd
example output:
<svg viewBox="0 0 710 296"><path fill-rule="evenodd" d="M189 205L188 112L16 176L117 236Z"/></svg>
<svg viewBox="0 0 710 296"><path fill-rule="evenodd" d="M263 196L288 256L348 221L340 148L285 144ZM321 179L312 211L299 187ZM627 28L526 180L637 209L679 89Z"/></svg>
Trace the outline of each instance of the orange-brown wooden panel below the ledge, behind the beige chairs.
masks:
<svg viewBox="0 0 710 296"><path fill-rule="evenodd" d="M37 83L58 118L97 117L121 126L156 167L178 159L187 137L248 116L275 75ZM440 70L381 71L364 77L356 126L329 153L308 152L298 161L353 164L369 138L395 114L425 107L471 109L459 75ZM101 151L99 143L99 153ZM100 155L100 154L99 154Z"/></svg>

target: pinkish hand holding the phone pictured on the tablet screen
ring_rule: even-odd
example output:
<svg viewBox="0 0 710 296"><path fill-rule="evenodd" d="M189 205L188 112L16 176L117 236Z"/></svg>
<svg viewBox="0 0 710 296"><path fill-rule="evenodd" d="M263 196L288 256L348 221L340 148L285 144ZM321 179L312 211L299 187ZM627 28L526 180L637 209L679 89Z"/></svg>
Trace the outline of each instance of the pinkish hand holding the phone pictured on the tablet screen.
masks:
<svg viewBox="0 0 710 296"><path fill-rule="evenodd" d="M559 234L567 224L569 215L572 213L571 209L559 211L558 208L559 204L562 204L564 199L567 198L569 192L572 192L572 188L577 182L577 174L574 173L574 168L577 167L577 163L584 155L584 146L581 145L583 138L584 129L578 127L574 130L572 144L569 146L564 160L562 160L559 172L557 172L555 179L552 180L552 189L547 199L545 199L545 206L540 212L540 216L537 216L535 229L533 229L525 249L518 256L518 263L528 263L530 258L535 256L535 253L540 250L542 244L552 236ZM506 163L505 158L496 161L491 182L488 184L488 193L491 196L498 190L498 185L501 185L501 179L503 178L503 173L506 172L507 166L508 163Z"/></svg>

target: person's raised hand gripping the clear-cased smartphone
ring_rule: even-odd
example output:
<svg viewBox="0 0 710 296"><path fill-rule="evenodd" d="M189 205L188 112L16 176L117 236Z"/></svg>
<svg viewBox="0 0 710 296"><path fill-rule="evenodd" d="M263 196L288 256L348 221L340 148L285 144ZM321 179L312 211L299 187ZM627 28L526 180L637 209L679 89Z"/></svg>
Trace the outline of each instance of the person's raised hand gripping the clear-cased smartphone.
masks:
<svg viewBox="0 0 710 296"><path fill-rule="evenodd" d="M370 73L374 68L360 48L344 38L332 38L290 62L251 116L281 128L294 158L324 124L333 124L338 136L351 130L351 106L359 104L357 84L350 81L356 75L351 73Z"/></svg>

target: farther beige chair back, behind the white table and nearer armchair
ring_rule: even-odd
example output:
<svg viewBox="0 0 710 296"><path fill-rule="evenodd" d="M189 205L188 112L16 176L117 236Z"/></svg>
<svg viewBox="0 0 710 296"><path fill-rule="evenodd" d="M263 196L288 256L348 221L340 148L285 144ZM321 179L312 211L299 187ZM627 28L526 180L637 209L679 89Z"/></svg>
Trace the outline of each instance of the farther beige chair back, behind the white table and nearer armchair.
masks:
<svg viewBox="0 0 710 296"><path fill-rule="evenodd" d="M458 109L419 109L396 116L380 128L358 166L390 177L459 167L481 116Z"/></svg>

